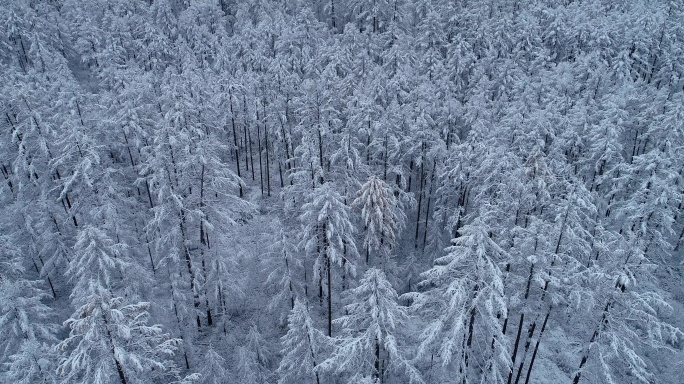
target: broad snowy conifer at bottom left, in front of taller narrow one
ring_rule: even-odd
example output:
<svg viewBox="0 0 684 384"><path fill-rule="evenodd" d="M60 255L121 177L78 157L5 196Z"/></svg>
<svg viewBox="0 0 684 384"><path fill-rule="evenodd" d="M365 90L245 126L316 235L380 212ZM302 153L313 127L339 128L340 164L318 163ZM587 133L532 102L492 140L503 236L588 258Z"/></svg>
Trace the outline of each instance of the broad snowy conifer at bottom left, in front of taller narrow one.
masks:
<svg viewBox="0 0 684 384"><path fill-rule="evenodd" d="M164 378L174 364L180 342L148 325L149 303L125 304L97 282L90 281L86 297L64 325L69 337L58 344L64 353L57 372L65 382L108 384L146 383ZM83 294L83 293L82 293Z"/></svg>

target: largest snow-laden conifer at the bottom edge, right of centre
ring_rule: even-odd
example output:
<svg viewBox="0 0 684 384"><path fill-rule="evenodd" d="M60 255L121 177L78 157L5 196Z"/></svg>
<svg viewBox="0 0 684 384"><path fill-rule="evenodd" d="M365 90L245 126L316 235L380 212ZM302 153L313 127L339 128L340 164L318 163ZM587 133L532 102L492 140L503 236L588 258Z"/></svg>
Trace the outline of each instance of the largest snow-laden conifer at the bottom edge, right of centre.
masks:
<svg viewBox="0 0 684 384"><path fill-rule="evenodd" d="M501 270L506 253L479 218L459 233L447 255L423 273L426 290L405 295L427 323L417 358L441 366L434 368L437 380L503 383L510 366L501 324L507 316Z"/></svg>

